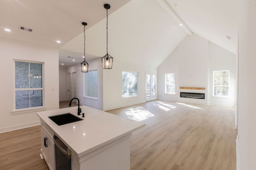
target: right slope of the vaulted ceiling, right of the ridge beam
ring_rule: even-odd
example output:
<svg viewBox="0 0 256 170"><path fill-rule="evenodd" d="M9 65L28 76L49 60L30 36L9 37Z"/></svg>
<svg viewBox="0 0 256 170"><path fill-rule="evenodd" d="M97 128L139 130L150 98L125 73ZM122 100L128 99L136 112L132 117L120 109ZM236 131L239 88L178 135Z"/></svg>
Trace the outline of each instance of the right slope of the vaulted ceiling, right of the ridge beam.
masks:
<svg viewBox="0 0 256 170"><path fill-rule="evenodd" d="M166 0L193 33L236 53L238 0ZM227 37L231 39L227 39Z"/></svg>

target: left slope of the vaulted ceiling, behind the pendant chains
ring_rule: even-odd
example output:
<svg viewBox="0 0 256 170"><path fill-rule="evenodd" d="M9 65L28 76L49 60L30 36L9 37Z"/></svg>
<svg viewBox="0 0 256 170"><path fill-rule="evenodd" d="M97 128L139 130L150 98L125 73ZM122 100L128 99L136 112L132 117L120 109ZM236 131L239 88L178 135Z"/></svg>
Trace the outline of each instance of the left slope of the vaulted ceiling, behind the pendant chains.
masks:
<svg viewBox="0 0 256 170"><path fill-rule="evenodd" d="M108 17L108 53L122 63L159 66L187 33L156 0L132 0ZM83 33L61 49L83 51ZM86 53L106 54L106 18L86 30Z"/></svg>

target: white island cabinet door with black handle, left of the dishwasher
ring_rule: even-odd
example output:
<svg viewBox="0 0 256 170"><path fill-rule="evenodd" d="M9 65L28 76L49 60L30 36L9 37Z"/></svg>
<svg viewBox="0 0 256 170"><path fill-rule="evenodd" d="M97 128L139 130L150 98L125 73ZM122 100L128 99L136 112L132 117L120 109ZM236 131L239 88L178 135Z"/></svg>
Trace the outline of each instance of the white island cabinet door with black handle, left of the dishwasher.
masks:
<svg viewBox="0 0 256 170"><path fill-rule="evenodd" d="M55 170L55 156L54 156L54 142L53 134L51 135L51 130L48 129L47 125L41 123L42 128L42 156L47 163L50 170ZM48 131L47 131L48 130ZM50 132L49 132L50 131Z"/></svg>

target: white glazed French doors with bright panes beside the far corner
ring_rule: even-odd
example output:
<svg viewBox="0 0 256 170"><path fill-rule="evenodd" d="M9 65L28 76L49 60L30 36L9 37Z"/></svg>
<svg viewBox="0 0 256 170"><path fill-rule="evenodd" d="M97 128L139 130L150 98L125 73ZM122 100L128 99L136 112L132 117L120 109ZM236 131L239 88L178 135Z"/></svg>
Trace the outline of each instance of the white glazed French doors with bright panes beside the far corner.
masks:
<svg viewBox="0 0 256 170"><path fill-rule="evenodd" d="M146 72L146 101L157 99L156 73Z"/></svg>

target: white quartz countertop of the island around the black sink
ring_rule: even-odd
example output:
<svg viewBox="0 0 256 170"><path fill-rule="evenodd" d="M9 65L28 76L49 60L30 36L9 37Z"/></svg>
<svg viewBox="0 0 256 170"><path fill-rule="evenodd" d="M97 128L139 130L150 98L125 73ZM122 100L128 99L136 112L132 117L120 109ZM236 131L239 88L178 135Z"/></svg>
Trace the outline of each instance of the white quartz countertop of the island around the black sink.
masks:
<svg viewBox="0 0 256 170"><path fill-rule="evenodd" d="M68 107L36 114L44 121L78 157L92 152L116 139L124 137L145 125L92 107L80 106L85 117L77 115L78 107ZM66 125L57 125L48 116L72 113L84 120Z"/></svg>

